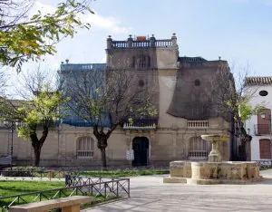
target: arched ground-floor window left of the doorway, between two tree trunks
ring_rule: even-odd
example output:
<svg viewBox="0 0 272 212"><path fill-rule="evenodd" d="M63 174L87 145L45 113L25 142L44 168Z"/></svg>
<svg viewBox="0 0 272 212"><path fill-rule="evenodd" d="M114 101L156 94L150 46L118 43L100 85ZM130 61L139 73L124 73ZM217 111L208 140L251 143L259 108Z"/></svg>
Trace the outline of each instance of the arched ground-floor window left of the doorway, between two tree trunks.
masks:
<svg viewBox="0 0 272 212"><path fill-rule="evenodd" d="M91 137L82 137L77 140L76 154L78 158L93 158L94 156L94 140Z"/></svg>

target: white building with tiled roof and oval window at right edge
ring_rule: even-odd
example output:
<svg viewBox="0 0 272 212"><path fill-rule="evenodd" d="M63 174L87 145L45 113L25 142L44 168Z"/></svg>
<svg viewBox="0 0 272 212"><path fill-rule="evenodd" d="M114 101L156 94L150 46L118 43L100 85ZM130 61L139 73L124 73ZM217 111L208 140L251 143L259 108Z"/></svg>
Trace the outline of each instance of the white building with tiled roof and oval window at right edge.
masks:
<svg viewBox="0 0 272 212"><path fill-rule="evenodd" d="M251 160L271 160L272 76L247 77L245 92L250 95L249 103L253 107L265 106L264 110L253 115L245 123L245 130L252 136Z"/></svg>

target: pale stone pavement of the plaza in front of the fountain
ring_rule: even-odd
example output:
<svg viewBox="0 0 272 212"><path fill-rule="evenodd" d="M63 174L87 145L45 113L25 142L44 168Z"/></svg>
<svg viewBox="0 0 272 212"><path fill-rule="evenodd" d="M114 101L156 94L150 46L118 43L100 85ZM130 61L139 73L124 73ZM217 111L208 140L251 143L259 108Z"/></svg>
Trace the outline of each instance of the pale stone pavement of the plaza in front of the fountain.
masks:
<svg viewBox="0 0 272 212"><path fill-rule="evenodd" d="M102 211L272 211L272 169L247 185L163 184L165 176L131 178L131 198L92 207Z"/></svg>

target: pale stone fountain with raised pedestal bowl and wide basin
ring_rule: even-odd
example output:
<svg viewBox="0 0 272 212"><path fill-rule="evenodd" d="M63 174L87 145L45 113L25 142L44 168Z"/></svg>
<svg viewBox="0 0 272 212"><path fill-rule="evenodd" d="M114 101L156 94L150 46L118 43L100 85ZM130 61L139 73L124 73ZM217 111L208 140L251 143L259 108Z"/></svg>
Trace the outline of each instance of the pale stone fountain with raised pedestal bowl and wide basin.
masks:
<svg viewBox="0 0 272 212"><path fill-rule="evenodd" d="M187 184L242 184L257 181L259 167L257 162L222 161L219 145L229 140L228 135L202 135L203 140L211 142L212 149L208 161L171 161L170 178L163 178L164 183Z"/></svg>

